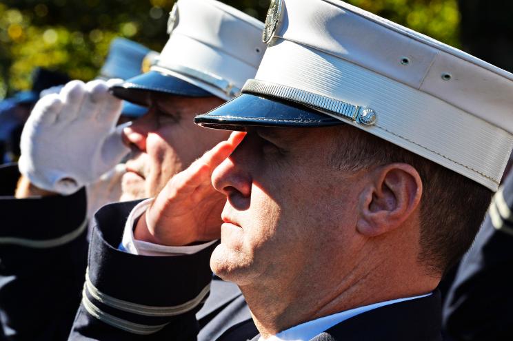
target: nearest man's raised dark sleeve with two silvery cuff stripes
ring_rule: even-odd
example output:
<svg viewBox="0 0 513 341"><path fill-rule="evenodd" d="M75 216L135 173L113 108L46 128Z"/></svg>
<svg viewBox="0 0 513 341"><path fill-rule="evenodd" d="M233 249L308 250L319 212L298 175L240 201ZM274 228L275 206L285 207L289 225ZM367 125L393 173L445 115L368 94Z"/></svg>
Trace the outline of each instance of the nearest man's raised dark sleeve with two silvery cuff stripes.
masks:
<svg viewBox="0 0 513 341"><path fill-rule="evenodd" d="M134 203L95 215L83 298L69 340L196 340L195 313L210 291L215 245L185 256L119 250Z"/></svg>

